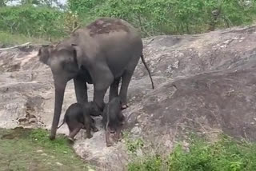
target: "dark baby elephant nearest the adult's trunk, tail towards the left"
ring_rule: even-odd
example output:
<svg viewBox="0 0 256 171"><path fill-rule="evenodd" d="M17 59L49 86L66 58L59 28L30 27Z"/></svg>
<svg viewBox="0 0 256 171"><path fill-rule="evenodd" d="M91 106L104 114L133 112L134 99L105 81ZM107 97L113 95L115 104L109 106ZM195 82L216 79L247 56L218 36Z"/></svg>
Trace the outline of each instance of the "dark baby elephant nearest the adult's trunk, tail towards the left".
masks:
<svg viewBox="0 0 256 171"><path fill-rule="evenodd" d="M66 110L62 125L66 122L70 130L68 139L74 141L74 136L80 131L80 129L86 129L86 137L91 138L90 129L97 132L98 129L95 126L95 121L90 114L94 112L93 102L86 102L84 105L74 103ZM59 125L60 128L62 125Z"/></svg>

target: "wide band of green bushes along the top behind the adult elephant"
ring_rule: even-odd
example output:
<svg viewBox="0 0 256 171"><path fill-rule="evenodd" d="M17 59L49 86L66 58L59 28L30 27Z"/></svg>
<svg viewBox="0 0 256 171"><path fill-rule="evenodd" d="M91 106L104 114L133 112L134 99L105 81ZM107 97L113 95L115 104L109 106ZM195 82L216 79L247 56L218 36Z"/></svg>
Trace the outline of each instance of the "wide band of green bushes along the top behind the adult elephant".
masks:
<svg viewBox="0 0 256 171"><path fill-rule="evenodd" d="M6 6L9 1L0 3L0 31L48 41L98 17L123 18L146 37L247 25L256 15L255 0L68 0L66 6L55 0L22 0L21 5Z"/></svg>

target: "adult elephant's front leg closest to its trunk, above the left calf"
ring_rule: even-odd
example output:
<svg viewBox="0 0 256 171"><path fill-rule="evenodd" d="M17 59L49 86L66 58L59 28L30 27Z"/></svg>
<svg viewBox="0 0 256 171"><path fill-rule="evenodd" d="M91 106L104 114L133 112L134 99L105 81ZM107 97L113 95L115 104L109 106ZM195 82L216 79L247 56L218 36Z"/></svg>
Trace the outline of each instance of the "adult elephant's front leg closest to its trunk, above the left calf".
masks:
<svg viewBox="0 0 256 171"><path fill-rule="evenodd" d="M74 90L78 103L88 102L86 80L82 77L74 78Z"/></svg>

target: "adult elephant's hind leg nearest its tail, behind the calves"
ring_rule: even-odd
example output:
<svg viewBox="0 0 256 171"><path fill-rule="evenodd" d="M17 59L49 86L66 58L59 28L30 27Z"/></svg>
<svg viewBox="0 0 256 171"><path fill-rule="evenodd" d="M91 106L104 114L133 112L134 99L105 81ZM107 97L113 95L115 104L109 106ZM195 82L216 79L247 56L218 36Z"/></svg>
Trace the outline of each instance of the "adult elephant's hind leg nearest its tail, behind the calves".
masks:
<svg viewBox="0 0 256 171"><path fill-rule="evenodd" d="M127 71L122 75L122 85L120 89L119 96L121 98L122 102L122 109L126 109L128 107L127 105L127 91L128 91L128 86L130 83L130 80L133 76L134 72Z"/></svg>

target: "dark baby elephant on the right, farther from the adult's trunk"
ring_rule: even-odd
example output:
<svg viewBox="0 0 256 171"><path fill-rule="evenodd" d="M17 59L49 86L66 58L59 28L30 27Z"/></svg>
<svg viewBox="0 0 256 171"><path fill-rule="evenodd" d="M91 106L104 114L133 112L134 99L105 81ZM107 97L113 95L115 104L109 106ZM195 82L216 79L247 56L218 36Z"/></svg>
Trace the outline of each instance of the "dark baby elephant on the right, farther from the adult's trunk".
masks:
<svg viewBox="0 0 256 171"><path fill-rule="evenodd" d="M114 97L102 112L102 124L106 129L106 146L112 145L110 143L110 133L114 133L115 140L119 141L121 138L121 129L125 117L122 114L122 103L119 97Z"/></svg>

